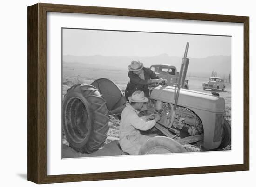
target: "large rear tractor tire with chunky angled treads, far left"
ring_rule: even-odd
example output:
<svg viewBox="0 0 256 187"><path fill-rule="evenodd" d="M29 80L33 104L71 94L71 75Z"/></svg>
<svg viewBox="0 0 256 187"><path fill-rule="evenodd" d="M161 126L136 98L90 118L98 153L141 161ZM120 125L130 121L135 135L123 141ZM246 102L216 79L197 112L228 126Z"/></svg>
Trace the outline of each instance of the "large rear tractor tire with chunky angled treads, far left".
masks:
<svg viewBox="0 0 256 187"><path fill-rule="evenodd" d="M108 109L97 88L76 84L67 90L62 107L62 129L70 147L92 153L105 142L108 132Z"/></svg>

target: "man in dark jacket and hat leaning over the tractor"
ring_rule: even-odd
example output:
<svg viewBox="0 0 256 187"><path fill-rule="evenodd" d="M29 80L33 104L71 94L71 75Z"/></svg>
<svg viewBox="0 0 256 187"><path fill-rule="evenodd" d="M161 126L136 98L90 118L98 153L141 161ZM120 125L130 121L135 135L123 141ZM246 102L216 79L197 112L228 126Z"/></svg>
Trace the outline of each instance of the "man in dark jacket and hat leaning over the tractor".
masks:
<svg viewBox="0 0 256 187"><path fill-rule="evenodd" d="M143 66L140 61L132 61L128 66L129 72L128 77L130 81L128 82L125 89L125 97L128 99L132 93L136 90L144 91L146 97L149 97L149 90L147 86L153 83L161 83L162 78L159 78L154 71L150 68Z"/></svg>

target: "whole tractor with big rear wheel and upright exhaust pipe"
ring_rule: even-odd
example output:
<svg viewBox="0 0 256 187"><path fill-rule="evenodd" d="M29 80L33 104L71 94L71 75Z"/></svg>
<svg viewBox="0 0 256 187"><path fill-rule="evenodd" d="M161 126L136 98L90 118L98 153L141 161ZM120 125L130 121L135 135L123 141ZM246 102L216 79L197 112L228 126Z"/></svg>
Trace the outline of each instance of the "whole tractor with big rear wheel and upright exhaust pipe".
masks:
<svg viewBox="0 0 256 187"><path fill-rule="evenodd" d="M165 137L147 141L140 154L186 152L182 144L187 143L197 143L204 150L218 150L231 141L231 127L224 119L225 100L216 92L183 88L189 64L188 47L189 43L177 83L149 86L147 106L161 114L155 128ZM109 116L120 114L126 103L120 88L106 78L97 79L91 85L72 86L62 106L62 129L70 147L81 153L101 148L107 138Z"/></svg>

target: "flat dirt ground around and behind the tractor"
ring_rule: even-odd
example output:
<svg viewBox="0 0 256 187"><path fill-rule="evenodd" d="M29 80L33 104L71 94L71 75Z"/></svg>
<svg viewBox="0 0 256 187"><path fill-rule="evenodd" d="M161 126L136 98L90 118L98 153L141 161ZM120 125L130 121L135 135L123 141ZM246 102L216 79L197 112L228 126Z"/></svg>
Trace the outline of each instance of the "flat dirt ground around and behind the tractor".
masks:
<svg viewBox="0 0 256 187"><path fill-rule="evenodd" d="M89 72L89 71L88 71ZM91 73L91 72L90 72ZM99 72L98 72L99 73ZM112 80L114 77L108 77L108 74L106 72L103 72L105 76L102 76L102 72L99 73L98 76L109 78ZM62 84L62 97L66 94L66 91L68 88L70 88L74 84L79 83L86 83L91 84L94 80L100 77L93 77L91 74L90 77L82 77L77 76L77 73L75 71L70 71L69 69L63 69L63 84ZM189 79L189 89L190 90L196 90L196 91L202 91L202 92L211 92L212 90L203 90L202 89L202 83L207 82L208 78L199 78L199 77L188 77ZM116 76L113 80L120 88L121 90L125 89L126 83L127 83L127 75L123 72L116 73ZM225 119L229 122L231 126L231 84L226 84L226 89L224 91L217 90L215 92L218 92L221 97L225 99L226 102L226 116ZM74 149L69 147L68 142L65 139L65 136L62 140L62 158L78 158L78 157L95 157L95 156L117 156L121 155L121 149L118 144L119 140L119 123L120 121L116 119L115 117L110 117L109 120L109 130L107 133L107 140L98 151L95 151L91 154L82 154L76 152ZM156 136L161 135L161 133L156 129L151 129L148 132L148 135L150 136ZM200 152L203 151L196 145L191 144L185 144L183 147L188 152ZM231 144L228 145L224 150L231 150Z"/></svg>

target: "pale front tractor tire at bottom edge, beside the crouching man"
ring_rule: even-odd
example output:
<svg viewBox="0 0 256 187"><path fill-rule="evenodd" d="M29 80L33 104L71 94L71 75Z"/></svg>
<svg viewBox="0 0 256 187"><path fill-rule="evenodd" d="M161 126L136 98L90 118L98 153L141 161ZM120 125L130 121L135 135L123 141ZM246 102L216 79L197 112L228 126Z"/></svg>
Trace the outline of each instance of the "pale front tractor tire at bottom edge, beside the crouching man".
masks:
<svg viewBox="0 0 256 187"><path fill-rule="evenodd" d="M183 152L187 151L179 142L166 136L155 136L141 146L139 155Z"/></svg>

